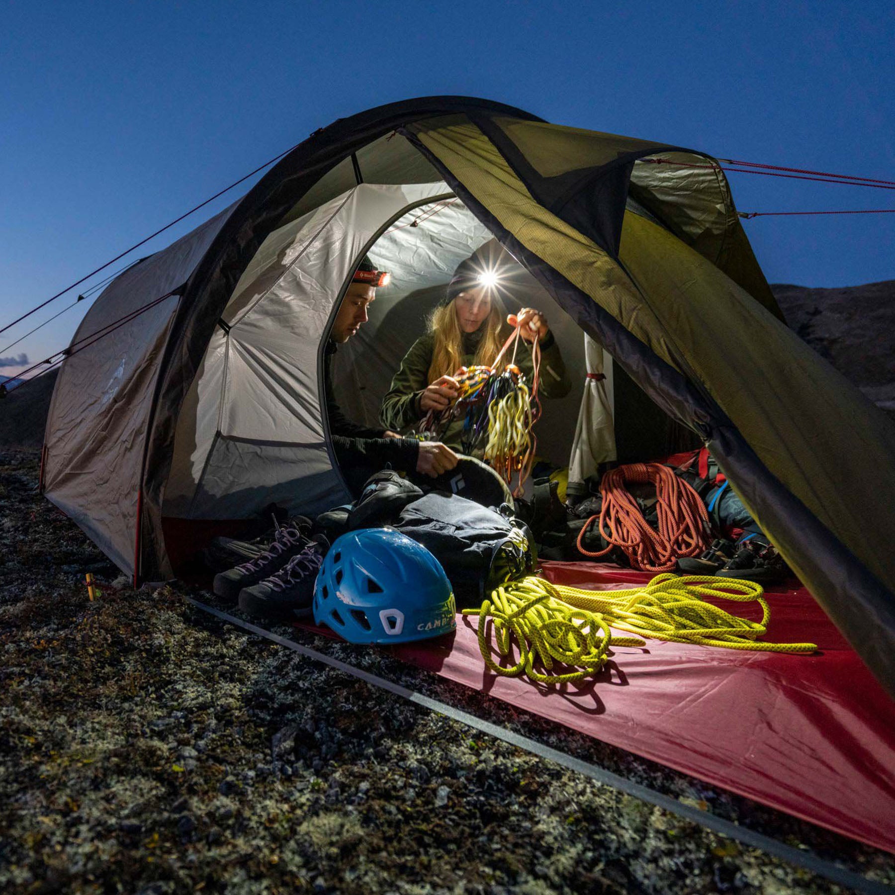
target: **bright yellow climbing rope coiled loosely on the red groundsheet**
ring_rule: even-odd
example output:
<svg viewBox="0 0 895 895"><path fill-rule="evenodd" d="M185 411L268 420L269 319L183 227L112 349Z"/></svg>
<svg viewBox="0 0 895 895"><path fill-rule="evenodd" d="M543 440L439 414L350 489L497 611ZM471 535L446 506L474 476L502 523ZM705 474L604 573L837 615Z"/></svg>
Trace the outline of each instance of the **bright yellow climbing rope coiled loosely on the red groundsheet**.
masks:
<svg viewBox="0 0 895 895"><path fill-rule="evenodd" d="M756 601L763 618L754 622L731 615L703 597ZM584 591L529 575L502 584L479 609L464 609L463 614L479 617L479 650L489 669L506 677L524 673L543 684L592 677L606 662L610 646L644 646L640 636L729 650L806 653L817 649L815 644L758 640L771 618L763 588L751 581L721 581L709 575L666 573L623 591ZM499 655L511 655L515 640L519 652L515 665L502 667L492 658L489 618ZM620 637L609 626L640 636ZM535 669L535 661L545 670ZM575 670L552 674L554 662Z"/></svg>

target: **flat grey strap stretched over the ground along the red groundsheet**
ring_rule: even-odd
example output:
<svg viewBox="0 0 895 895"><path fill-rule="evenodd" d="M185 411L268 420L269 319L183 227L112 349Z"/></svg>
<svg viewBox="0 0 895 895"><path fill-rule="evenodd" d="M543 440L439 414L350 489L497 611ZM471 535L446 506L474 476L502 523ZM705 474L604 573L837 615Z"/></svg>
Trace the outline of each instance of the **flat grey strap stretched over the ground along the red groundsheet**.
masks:
<svg viewBox="0 0 895 895"><path fill-rule="evenodd" d="M720 836L740 842L749 848L757 848L767 855L778 857L780 860L787 861L789 864L802 867L813 874L823 876L831 882L835 882L842 886L848 886L849 889L861 892L862 895L895 895L895 889L891 886L887 886L881 882L874 882L874 880L868 880L861 874L846 870L843 867L832 864L830 861L823 860L822 857L818 857L813 852L805 852L799 848L793 848L779 840L773 839L771 836L765 836L763 833L750 830L747 827L726 820L723 817L718 817L708 811L703 811L692 805L686 805L677 798L666 796L664 793L646 787L643 784L635 783L633 780L627 780L625 777L613 773L612 771L608 771L605 768L601 768L596 764L585 762L580 758L575 758L574 755L569 755L558 749L545 746L531 737L524 737L522 734L503 728L499 724L493 724L490 721L482 720L476 715L464 712L461 709L456 709L447 703L442 703L438 699L433 699L431 696L422 695L422 693L418 693L409 687L396 684L387 678L380 678L378 675L371 674L369 671L355 668L354 665L334 659L332 656L328 656L325 652L318 652L309 646L298 644L294 640L289 640L286 637L274 634L272 631L265 630L257 625L252 625L249 622L243 621L242 618L236 618L226 612L222 612L220 609L215 609L206 603L195 600L192 597L184 597L183 599L191 603L197 609L207 612L215 618L219 618L231 625L241 627L251 634L264 637L279 646L285 646L286 649L292 650L292 652L297 652L306 659L321 662L332 669L336 669L353 678L362 680L365 684L379 687L381 690L400 696L409 703L420 705L422 708L429 709L430 712L444 715L450 720L465 724L467 727L478 730L482 734L502 740L510 746L516 746L516 748L523 749L525 752L533 754L538 758L557 763L562 767L567 768L569 771L584 774L585 777L589 777L591 780L594 780L603 786L618 789L618 791L625 793L626 796L640 799L648 805L655 805L663 811L677 814L678 817L683 817L688 821L697 823L706 830L711 830L714 833L718 833Z"/></svg>

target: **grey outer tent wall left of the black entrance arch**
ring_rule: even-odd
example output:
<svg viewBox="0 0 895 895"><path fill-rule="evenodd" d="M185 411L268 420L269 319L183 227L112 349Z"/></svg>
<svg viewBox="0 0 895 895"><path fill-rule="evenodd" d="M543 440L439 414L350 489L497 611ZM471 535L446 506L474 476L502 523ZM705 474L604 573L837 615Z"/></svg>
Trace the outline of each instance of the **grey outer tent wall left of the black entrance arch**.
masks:
<svg viewBox="0 0 895 895"><path fill-rule="evenodd" d="M115 278L72 344L183 286L233 209ZM153 389L178 301L171 296L69 357L47 416L44 494L129 574Z"/></svg>

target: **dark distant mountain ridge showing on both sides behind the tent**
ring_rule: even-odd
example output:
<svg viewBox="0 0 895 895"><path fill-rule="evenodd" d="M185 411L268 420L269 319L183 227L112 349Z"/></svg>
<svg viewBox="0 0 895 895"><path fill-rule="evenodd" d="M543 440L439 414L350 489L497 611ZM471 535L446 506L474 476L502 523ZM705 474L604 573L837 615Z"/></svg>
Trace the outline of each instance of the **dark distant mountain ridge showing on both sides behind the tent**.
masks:
<svg viewBox="0 0 895 895"><path fill-rule="evenodd" d="M895 280L833 289L779 283L771 290L788 325L895 419ZM0 445L40 447L57 372L0 400Z"/></svg>

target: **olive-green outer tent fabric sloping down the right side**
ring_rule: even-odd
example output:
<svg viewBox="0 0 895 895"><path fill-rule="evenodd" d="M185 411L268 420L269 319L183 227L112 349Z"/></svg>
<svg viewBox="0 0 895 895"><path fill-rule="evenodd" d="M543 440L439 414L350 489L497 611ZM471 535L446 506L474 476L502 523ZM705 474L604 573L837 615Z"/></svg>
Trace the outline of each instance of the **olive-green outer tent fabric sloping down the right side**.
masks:
<svg viewBox="0 0 895 895"><path fill-rule="evenodd" d="M564 197L554 202L556 213L545 207L543 197L556 191L542 181L577 171L579 184L592 183L607 167L602 176L614 176L622 163L635 168L632 141L550 124L503 127L518 152L530 153L524 166L492 139L493 125L479 124L477 117L435 120L413 132L456 180L458 194L516 243L526 263L542 262L636 339L633 350L628 339L610 351L638 384L668 400L669 371L655 369L655 361L679 374L684 381L669 410L700 430L797 575L891 681L895 425L781 322L729 189L715 189L720 166L703 158L694 169L712 171L707 194L701 176L685 179L677 192L642 181L632 193L647 213L626 210L618 242L600 245L568 223L574 215ZM657 149L644 144L641 164ZM543 158L559 161L547 167ZM550 273L546 279L563 288ZM652 363L643 362L644 349Z"/></svg>

